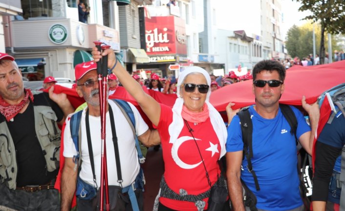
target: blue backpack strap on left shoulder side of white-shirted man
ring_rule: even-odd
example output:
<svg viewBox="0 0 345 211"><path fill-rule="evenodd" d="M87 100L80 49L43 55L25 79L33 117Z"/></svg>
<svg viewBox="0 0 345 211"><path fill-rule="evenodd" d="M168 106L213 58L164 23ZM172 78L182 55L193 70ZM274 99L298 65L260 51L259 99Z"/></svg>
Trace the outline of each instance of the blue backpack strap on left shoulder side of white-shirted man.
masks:
<svg viewBox="0 0 345 211"><path fill-rule="evenodd" d="M81 155L81 150L80 150L81 139L79 139L79 137L80 137L80 121L82 118L82 113L83 113L83 110L73 114L69 122L71 137L72 137L75 149L77 150L77 155L73 157L73 161L75 164L77 164L77 162L80 164L81 162L81 159L79 159Z"/></svg>

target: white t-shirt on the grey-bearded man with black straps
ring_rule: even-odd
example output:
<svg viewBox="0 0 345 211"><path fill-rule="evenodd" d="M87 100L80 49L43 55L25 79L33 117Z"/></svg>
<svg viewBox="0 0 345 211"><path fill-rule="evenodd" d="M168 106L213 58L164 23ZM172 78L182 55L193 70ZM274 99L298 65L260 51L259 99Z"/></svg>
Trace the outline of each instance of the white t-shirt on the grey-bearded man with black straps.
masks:
<svg viewBox="0 0 345 211"><path fill-rule="evenodd" d="M138 155L135 146L135 140L133 132L126 117L122 114L119 107L112 101L108 100L109 106L111 106L114 121L117 141L119 145L120 163L123 183L122 186L129 186L134 182L137 174L139 173L139 162ZM131 109L133 110L135 116L135 130L138 136L145 133L149 127L140 116L138 110L129 103ZM85 182L93 185L92 169L90 164L90 159L88 155L88 146L86 138L86 108L83 110L81 119L81 137L82 137L82 169L80 171L80 178ZM106 147L107 147L107 165L108 165L108 185L119 186L117 183L117 171L115 163L115 153L114 145L112 142L111 124L109 118L109 112L107 112L106 121ZM66 119L66 127L64 133L64 157L72 158L77 155L77 150L71 138L70 118ZM100 187L100 177L101 177L101 117L89 116L90 125L90 135L92 142L92 151L95 164L95 175L98 188Z"/></svg>

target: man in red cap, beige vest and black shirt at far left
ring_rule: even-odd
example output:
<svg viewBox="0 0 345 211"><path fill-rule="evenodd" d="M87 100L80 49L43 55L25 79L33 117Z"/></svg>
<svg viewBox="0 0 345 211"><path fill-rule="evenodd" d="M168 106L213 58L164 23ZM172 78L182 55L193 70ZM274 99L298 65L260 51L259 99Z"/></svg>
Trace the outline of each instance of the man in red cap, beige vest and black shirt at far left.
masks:
<svg viewBox="0 0 345 211"><path fill-rule="evenodd" d="M23 87L14 58L0 53L0 207L60 210L54 181L59 170L60 129L73 112L66 94Z"/></svg>

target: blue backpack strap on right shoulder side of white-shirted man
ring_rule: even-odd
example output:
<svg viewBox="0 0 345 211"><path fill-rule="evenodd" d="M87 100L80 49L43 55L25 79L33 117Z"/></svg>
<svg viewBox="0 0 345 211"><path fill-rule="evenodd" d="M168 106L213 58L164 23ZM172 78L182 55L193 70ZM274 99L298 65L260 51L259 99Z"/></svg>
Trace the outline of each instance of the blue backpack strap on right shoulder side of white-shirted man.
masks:
<svg viewBox="0 0 345 211"><path fill-rule="evenodd" d="M128 102L126 102L125 100L114 99L113 101L120 108L121 112L126 117L128 123L129 123L129 125L133 131L133 136L135 139L135 147L136 147L136 150L138 152L139 163L143 164L143 163L145 163L145 157L143 156L143 154L141 152L140 144L138 141L138 136L137 136L136 131L135 131L134 113L133 113L132 109L130 108Z"/></svg>

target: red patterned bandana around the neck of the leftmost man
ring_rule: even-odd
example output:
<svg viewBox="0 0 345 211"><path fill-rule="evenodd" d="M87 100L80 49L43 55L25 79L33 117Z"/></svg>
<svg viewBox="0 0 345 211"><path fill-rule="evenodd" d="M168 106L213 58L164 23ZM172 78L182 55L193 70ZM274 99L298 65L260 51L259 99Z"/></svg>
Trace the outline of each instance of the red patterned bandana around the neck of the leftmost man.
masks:
<svg viewBox="0 0 345 211"><path fill-rule="evenodd" d="M7 121L10 121L11 118L15 117L22 108L26 105L29 101L29 97L31 101L34 101L34 95L31 93L29 89L24 89L25 96L22 101L17 105L8 104L1 96L0 96L0 113L6 117Z"/></svg>

